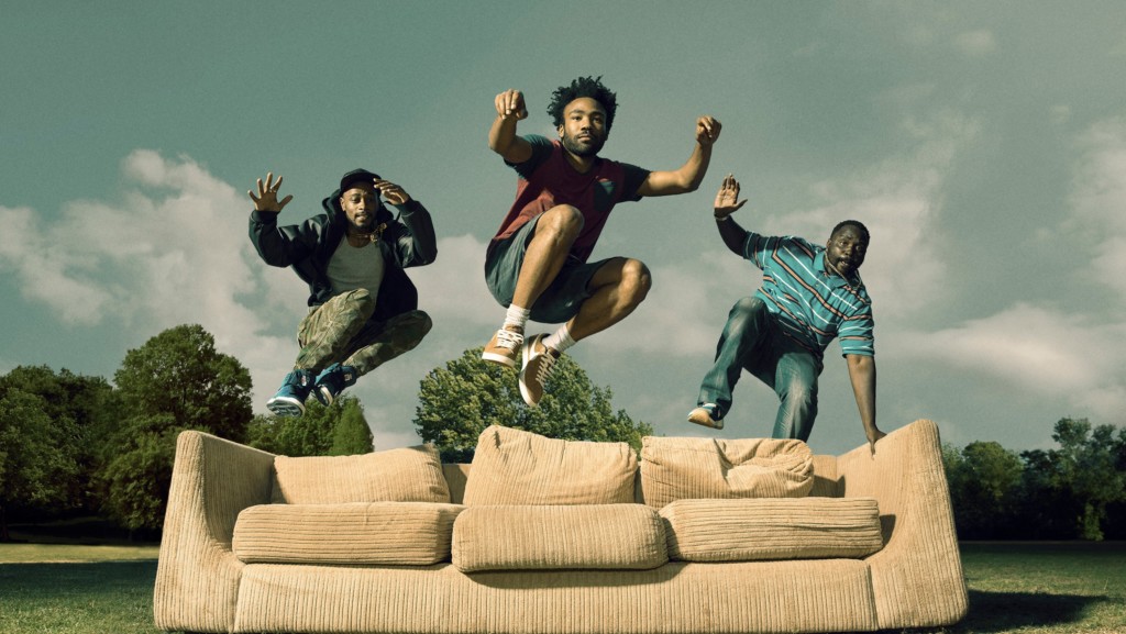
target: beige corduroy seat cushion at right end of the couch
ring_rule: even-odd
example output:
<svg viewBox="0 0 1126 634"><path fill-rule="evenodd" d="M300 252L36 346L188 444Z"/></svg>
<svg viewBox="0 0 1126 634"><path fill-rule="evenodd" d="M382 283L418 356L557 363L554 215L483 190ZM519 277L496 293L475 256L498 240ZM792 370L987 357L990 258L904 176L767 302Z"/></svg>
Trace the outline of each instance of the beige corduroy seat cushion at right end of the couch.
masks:
<svg viewBox="0 0 1126 634"><path fill-rule="evenodd" d="M661 517L672 560L857 559L884 545L874 498L679 500Z"/></svg>

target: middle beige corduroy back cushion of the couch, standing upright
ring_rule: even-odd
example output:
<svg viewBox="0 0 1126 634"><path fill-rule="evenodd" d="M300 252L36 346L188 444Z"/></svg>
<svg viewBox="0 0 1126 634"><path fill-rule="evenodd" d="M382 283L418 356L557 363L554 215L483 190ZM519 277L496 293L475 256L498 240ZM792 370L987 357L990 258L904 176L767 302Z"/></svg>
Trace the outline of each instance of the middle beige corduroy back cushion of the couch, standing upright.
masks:
<svg viewBox="0 0 1126 634"><path fill-rule="evenodd" d="M465 506L633 502L637 456L625 443L557 440L492 426L477 439Z"/></svg>

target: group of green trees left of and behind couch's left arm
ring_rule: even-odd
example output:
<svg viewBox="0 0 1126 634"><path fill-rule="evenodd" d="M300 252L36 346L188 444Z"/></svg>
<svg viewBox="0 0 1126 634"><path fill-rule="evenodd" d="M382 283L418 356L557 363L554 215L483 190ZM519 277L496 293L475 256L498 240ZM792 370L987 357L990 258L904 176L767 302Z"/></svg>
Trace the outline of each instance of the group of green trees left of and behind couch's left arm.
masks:
<svg viewBox="0 0 1126 634"><path fill-rule="evenodd" d="M250 393L250 373L196 324L129 350L113 385L46 366L0 376L0 541L9 523L83 516L155 537L186 429L291 456L372 450L355 399L297 420L254 416Z"/></svg>

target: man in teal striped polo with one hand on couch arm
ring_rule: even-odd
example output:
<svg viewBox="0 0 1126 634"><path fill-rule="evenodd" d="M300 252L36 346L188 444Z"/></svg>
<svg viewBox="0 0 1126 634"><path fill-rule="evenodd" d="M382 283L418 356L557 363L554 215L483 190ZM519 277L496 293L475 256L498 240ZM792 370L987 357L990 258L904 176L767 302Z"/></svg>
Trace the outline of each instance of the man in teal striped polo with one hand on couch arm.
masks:
<svg viewBox="0 0 1126 634"><path fill-rule="evenodd" d="M688 420L723 429L731 392L747 368L781 401L772 436L808 440L817 416L822 357L837 338L865 436L875 450L885 434L876 427L872 300L858 271L868 250L868 230L844 221L833 227L824 247L802 238L763 236L732 220L744 203L739 200L739 181L727 175L715 197L716 226L729 249L762 269L762 286L731 309L715 364Z"/></svg>

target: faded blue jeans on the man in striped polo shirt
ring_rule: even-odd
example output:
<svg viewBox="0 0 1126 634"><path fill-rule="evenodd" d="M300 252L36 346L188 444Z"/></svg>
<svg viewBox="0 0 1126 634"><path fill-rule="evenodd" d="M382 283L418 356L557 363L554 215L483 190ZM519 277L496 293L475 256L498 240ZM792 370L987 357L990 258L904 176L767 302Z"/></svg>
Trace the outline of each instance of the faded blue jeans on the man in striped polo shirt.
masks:
<svg viewBox="0 0 1126 634"><path fill-rule="evenodd" d="M735 302L720 336L715 364L700 384L698 404L715 403L720 416L731 410L731 392L745 368L778 394L775 438L808 440L817 417L817 376L823 365L814 355L783 334L758 297Z"/></svg>

